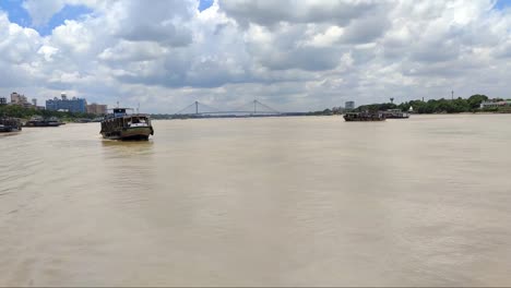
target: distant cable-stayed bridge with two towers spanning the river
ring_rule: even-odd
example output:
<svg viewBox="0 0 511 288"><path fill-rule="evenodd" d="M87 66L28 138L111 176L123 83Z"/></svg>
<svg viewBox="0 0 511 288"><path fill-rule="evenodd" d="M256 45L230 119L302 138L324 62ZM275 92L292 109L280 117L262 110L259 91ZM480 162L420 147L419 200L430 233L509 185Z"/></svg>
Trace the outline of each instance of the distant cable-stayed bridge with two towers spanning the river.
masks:
<svg viewBox="0 0 511 288"><path fill-rule="evenodd" d="M178 116L229 116L229 115L238 115L238 116L275 116L281 115L281 112L272 107L259 101L253 100L241 105L234 109L217 109L215 107L205 105L200 101L194 101L189 106L182 108L181 110L177 111L175 115Z"/></svg>

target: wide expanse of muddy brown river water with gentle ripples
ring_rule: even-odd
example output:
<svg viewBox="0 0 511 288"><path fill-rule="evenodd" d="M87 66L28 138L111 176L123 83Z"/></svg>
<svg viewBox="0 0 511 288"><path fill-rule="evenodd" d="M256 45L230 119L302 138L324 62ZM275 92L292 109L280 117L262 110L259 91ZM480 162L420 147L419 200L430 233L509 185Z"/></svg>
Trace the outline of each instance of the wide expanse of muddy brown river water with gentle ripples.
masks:
<svg viewBox="0 0 511 288"><path fill-rule="evenodd" d="M0 135L0 286L511 285L511 116Z"/></svg>

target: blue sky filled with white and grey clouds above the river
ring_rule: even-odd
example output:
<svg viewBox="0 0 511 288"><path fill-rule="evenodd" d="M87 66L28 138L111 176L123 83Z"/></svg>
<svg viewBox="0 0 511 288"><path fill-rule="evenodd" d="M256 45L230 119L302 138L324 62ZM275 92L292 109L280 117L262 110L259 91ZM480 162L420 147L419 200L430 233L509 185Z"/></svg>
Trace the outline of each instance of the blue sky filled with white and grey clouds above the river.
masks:
<svg viewBox="0 0 511 288"><path fill-rule="evenodd" d="M175 112L511 98L511 0L0 0L0 95Z"/></svg>

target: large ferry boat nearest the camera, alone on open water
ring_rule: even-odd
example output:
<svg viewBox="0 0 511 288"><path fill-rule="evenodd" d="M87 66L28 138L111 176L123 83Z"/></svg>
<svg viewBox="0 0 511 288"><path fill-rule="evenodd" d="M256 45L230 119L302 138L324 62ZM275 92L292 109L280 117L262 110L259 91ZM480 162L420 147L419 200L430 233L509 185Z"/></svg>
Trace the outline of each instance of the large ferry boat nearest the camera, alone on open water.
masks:
<svg viewBox="0 0 511 288"><path fill-rule="evenodd" d="M144 113L128 115L129 108L114 108L102 121L104 139L110 140L148 140L154 134L151 119Z"/></svg>

